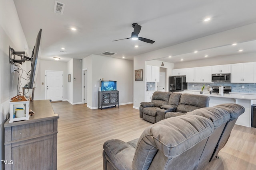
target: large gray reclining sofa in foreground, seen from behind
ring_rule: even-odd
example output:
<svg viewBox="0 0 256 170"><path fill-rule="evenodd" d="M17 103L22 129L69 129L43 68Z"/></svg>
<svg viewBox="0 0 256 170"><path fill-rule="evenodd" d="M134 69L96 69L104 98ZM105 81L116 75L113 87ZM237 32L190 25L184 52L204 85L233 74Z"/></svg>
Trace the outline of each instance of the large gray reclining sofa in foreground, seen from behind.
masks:
<svg viewBox="0 0 256 170"><path fill-rule="evenodd" d="M129 142L103 145L104 170L202 170L230 136L244 107L222 104L170 117Z"/></svg>

